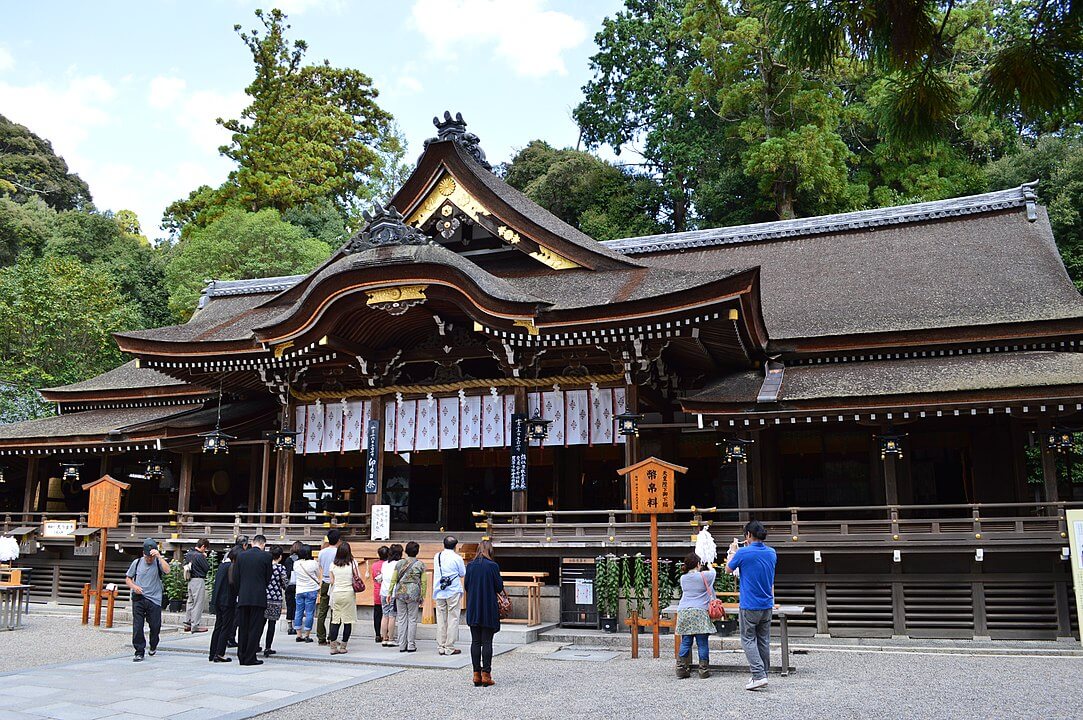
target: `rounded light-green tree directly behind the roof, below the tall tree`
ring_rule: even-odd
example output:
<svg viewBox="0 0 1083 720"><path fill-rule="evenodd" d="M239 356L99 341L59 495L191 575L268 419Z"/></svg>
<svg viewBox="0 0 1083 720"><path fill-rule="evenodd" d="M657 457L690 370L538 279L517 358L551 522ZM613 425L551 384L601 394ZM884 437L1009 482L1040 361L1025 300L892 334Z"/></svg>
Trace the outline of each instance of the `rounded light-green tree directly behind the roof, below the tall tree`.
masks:
<svg viewBox="0 0 1083 720"><path fill-rule="evenodd" d="M276 210L227 209L205 227L192 228L170 250L166 265L169 309L178 317L190 315L206 279L306 273L330 252L330 246L284 222Z"/></svg>

